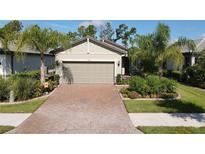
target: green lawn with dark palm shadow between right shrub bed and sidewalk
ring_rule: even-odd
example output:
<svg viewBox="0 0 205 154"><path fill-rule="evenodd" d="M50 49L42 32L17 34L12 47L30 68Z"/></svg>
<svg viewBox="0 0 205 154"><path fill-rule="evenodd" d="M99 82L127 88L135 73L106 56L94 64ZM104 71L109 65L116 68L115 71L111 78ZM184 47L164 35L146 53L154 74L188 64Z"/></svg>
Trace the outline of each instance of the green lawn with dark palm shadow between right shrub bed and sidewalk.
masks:
<svg viewBox="0 0 205 154"><path fill-rule="evenodd" d="M129 113L165 112L165 113L203 113L205 112L205 92L190 86L177 84L177 92L181 100L172 101L141 101L125 100Z"/></svg>

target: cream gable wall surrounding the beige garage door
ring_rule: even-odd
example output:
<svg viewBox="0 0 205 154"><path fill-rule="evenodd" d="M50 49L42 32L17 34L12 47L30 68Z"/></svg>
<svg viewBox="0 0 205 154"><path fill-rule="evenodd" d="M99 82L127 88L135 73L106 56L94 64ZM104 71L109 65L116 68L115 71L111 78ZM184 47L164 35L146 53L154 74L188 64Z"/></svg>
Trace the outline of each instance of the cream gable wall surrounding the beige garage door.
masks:
<svg viewBox="0 0 205 154"><path fill-rule="evenodd" d="M84 42L71 49L60 52L56 55L56 60L62 63L63 61L93 61L93 62L114 62L114 76L122 73L122 55L92 42ZM57 73L62 77L62 67L58 67Z"/></svg>

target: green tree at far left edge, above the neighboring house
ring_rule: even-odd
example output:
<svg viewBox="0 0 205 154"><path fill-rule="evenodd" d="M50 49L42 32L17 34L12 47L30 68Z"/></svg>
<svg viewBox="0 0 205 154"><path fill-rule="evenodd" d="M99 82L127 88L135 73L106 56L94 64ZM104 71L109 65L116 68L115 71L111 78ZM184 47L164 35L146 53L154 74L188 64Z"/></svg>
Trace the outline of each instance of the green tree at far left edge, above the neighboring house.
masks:
<svg viewBox="0 0 205 154"><path fill-rule="evenodd" d="M22 29L22 23L18 20L13 20L0 28L0 41L3 49L9 49L9 44L13 43L17 33Z"/></svg>

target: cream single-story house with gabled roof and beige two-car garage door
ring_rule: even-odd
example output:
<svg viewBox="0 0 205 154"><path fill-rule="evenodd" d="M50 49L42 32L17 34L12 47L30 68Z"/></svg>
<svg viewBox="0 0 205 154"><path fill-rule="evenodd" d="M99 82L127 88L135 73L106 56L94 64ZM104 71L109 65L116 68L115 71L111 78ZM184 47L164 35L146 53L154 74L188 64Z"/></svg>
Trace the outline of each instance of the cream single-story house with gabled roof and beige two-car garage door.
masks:
<svg viewBox="0 0 205 154"><path fill-rule="evenodd" d="M115 83L127 69L128 49L108 40L85 37L56 53L61 83Z"/></svg>

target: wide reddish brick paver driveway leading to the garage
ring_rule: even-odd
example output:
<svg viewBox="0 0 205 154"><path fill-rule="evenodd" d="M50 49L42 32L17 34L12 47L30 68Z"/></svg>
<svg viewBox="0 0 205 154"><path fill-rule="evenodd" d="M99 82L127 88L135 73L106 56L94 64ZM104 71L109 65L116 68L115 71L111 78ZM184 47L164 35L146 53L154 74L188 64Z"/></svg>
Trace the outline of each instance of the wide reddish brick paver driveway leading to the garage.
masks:
<svg viewBox="0 0 205 154"><path fill-rule="evenodd" d="M12 133L138 133L114 85L61 85Z"/></svg>

